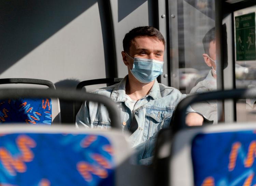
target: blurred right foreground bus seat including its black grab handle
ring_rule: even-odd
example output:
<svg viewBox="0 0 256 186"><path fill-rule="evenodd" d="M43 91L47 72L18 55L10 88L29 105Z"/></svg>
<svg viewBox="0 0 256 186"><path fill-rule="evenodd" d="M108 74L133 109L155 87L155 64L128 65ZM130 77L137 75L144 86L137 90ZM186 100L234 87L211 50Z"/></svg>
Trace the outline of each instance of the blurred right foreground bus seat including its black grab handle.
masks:
<svg viewBox="0 0 256 186"><path fill-rule="evenodd" d="M187 127L186 109L205 100L255 98L256 89L187 96L177 105L171 128L159 132L157 181L171 186L255 185L256 126L230 123ZM168 166L166 166L168 165ZM156 182L157 183L157 182Z"/></svg>

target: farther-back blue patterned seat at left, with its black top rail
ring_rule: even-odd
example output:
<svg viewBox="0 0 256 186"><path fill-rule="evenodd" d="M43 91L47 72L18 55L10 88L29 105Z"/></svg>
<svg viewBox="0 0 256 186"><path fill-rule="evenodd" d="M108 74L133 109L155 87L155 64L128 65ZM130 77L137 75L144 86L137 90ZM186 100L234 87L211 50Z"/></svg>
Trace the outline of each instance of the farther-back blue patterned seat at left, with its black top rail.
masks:
<svg viewBox="0 0 256 186"><path fill-rule="evenodd" d="M28 78L0 79L0 84L37 84L55 90L51 81ZM51 125L60 123L60 106L57 98L0 99L0 123L27 123Z"/></svg>

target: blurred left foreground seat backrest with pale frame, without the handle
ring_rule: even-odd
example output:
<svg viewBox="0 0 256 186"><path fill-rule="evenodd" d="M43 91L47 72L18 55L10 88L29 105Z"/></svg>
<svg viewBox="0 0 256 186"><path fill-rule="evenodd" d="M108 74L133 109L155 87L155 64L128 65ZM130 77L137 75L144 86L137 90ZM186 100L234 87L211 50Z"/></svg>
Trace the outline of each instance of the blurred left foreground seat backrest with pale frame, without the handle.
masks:
<svg viewBox="0 0 256 186"><path fill-rule="evenodd" d="M118 130L0 127L0 185L115 185L132 154Z"/></svg>

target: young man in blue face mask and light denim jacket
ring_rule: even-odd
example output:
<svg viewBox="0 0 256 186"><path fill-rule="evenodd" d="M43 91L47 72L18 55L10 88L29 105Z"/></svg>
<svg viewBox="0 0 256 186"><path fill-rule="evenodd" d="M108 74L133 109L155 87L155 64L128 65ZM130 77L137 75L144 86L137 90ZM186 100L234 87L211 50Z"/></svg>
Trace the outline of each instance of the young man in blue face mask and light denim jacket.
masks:
<svg viewBox="0 0 256 186"><path fill-rule="evenodd" d="M184 98L177 89L157 82L162 73L165 40L153 27L137 27L125 35L122 51L128 69L120 83L98 89L95 94L108 96L120 109L123 129L131 131L129 138L138 152L141 164L151 162L157 132L169 127L176 105ZM187 125L202 125L201 115L187 114ZM76 116L77 127L110 127L108 112L103 106L85 102Z"/></svg>

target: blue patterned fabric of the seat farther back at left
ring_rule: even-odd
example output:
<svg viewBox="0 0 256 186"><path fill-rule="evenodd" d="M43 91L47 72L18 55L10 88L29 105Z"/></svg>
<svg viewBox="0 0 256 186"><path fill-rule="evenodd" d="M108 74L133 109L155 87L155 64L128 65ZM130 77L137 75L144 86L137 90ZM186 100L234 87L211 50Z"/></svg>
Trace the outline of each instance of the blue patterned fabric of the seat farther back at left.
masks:
<svg viewBox="0 0 256 186"><path fill-rule="evenodd" d="M0 123L52 124L50 98L0 100Z"/></svg>

